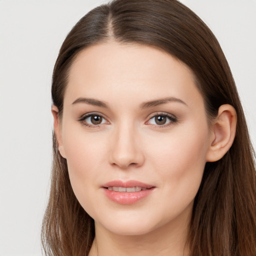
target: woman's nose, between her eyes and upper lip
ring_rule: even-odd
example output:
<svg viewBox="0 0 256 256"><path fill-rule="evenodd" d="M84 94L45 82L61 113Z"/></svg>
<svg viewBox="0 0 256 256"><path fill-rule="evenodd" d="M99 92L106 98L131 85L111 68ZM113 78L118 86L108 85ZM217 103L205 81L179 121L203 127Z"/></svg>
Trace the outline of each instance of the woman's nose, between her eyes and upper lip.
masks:
<svg viewBox="0 0 256 256"><path fill-rule="evenodd" d="M139 167L144 162L139 132L129 125L123 125L113 131L111 137L110 163L120 168Z"/></svg>

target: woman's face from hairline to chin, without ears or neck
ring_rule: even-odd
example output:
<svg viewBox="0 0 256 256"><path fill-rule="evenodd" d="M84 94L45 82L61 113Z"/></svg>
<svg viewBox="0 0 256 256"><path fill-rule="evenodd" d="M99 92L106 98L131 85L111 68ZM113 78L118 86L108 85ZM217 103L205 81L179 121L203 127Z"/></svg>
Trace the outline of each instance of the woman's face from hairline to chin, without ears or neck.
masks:
<svg viewBox="0 0 256 256"><path fill-rule="evenodd" d="M185 64L150 46L87 47L71 66L59 130L72 188L96 226L144 234L187 223L211 132Z"/></svg>

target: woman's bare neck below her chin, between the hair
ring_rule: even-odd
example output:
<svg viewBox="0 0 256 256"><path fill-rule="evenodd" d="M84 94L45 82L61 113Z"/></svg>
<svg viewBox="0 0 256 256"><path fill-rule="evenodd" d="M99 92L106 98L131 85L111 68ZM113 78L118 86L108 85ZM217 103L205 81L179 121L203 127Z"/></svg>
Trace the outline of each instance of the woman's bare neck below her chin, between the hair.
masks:
<svg viewBox="0 0 256 256"><path fill-rule="evenodd" d="M186 219L176 219L139 235L116 234L95 221L95 239L89 256L187 256L189 221L190 214Z"/></svg>

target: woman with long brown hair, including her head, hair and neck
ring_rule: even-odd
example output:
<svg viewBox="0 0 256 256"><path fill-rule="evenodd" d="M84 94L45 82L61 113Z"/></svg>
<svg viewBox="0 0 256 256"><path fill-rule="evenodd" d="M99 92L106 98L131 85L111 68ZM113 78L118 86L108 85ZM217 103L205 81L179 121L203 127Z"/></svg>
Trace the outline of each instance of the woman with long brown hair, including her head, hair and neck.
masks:
<svg viewBox="0 0 256 256"><path fill-rule="evenodd" d="M253 149L206 25L176 0L81 18L52 78L46 255L255 255Z"/></svg>

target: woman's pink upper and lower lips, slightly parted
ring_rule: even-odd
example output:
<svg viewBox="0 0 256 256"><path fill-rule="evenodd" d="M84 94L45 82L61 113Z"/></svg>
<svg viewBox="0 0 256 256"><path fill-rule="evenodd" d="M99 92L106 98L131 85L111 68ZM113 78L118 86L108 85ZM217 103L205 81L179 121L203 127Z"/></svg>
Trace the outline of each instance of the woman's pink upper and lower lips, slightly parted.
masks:
<svg viewBox="0 0 256 256"><path fill-rule="evenodd" d="M107 187L111 187L111 186L120 186L120 187L139 186L139 187L145 187L147 189L135 191L135 192L119 192L119 191L108 190ZM114 201L119 204L133 204L145 198L146 196L148 196L155 189L155 186L146 184L140 181L136 181L136 180L128 180L128 181L113 180L103 184L101 188L103 189L105 195L111 201Z"/></svg>

